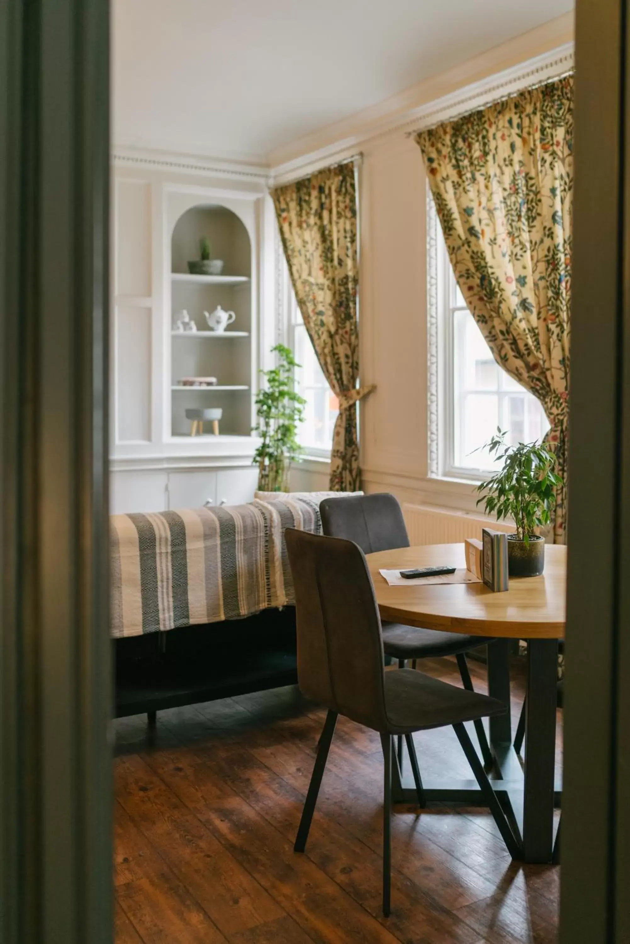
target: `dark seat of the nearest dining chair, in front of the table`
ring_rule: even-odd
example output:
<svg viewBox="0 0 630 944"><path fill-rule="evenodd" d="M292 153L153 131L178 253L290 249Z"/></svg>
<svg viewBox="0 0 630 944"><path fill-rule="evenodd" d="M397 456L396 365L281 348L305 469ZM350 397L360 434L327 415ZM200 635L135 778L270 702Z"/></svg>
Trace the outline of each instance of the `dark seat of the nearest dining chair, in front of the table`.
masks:
<svg viewBox="0 0 630 944"><path fill-rule="evenodd" d="M427 731L445 725L503 715L502 701L433 679L413 668L384 673L388 734Z"/></svg>

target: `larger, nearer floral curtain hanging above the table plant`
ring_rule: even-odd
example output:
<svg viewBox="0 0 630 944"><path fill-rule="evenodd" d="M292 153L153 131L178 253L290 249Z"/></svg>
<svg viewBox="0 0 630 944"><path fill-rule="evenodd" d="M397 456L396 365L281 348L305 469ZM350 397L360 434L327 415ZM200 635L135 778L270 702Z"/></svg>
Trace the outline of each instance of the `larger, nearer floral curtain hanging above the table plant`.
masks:
<svg viewBox="0 0 630 944"><path fill-rule="evenodd" d="M566 480L573 77L421 131L457 283L495 360L542 403ZM554 540L564 543L566 495Z"/></svg>

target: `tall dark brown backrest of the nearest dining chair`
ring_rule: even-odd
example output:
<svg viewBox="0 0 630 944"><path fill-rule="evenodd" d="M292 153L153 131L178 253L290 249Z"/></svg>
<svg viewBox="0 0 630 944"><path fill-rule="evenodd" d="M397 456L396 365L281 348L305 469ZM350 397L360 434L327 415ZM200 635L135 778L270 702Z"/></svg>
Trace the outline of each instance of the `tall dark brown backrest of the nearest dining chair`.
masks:
<svg viewBox="0 0 630 944"><path fill-rule="evenodd" d="M363 551L306 531L288 528L284 535L296 592L301 691L385 731L381 620Z"/></svg>

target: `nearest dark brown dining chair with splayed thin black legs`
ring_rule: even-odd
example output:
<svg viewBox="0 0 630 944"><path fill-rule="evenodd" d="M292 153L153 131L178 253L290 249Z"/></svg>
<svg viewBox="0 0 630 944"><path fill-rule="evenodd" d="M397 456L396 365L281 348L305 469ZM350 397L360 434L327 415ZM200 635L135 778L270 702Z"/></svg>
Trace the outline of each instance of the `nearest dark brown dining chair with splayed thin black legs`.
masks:
<svg viewBox="0 0 630 944"><path fill-rule="evenodd" d="M501 701L459 688L422 672L384 671L381 619L366 556L352 541L287 529L286 547L296 594L298 683L307 699L328 709L313 776L298 828L295 851L306 847L319 786L337 716L349 717L381 735L383 790L383 915L390 911L392 739L405 738L416 788L421 784L413 733L452 725L513 857L519 844L502 811L465 722L500 715ZM396 757L394 756L394 763Z"/></svg>

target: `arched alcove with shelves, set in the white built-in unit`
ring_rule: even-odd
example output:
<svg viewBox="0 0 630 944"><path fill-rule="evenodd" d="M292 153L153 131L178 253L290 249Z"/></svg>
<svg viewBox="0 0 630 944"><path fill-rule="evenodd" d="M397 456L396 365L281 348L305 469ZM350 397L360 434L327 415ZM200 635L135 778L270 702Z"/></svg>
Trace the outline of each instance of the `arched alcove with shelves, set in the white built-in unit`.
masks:
<svg viewBox="0 0 630 944"><path fill-rule="evenodd" d="M190 272L200 260L200 241L208 240L210 258L220 260L213 274ZM194 266L195 268L195 266ZM220 271L217 271L220 269ZM188 409L218 407L220 435L248 436L251 431L251 243L240 217L220 204L199 205L183 212L171 237L171 396L172 435L200 434L186 416ZM224 331L213 331L204 312L218 307L234 312ZM181 312L196 332L180 332ZM182 380L217 379L216 388L184 388ZM213 436L211 422L204 436Z"/></svg>

